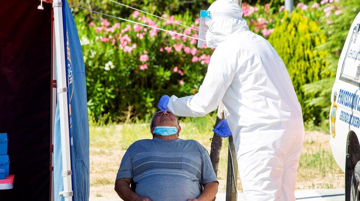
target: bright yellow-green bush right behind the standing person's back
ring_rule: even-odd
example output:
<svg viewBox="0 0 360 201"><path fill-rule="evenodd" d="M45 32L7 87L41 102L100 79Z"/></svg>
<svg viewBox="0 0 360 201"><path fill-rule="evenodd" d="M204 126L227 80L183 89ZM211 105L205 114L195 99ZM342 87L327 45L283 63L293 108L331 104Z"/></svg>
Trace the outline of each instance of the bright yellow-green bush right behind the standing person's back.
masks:
<svg viewBox="0 0 360 201"><path fill-rule="evenodd" d="M324 44L327 38L316 22L303 17L302 12L293 12L290 18L287 16L284 15L283 22L277 24L274 33L269 37L269 42L288 69L302 106L303 118L319 122L322 119L319 116L320 108L305 104L305 101L312 97L304 95L301 87L329 76L330 73L321 74L328 66L321 58L326 58L328 52L314 51L314 48Z"/></svg>

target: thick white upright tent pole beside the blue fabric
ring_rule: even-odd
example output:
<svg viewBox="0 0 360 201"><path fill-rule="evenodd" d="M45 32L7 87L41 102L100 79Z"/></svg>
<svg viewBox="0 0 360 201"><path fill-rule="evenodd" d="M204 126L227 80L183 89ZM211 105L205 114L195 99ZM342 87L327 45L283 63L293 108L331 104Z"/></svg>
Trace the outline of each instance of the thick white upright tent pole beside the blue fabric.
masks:
<svg viewBox="0 0 360 201"><path fill-rule="evenodd" d="M64 29L61 0L53 1L54 23L55 23L55 47L57 65L57 91L60 109L60 132L61 132L61 153L63 170L62 177L64 191L59 192L59 196L64 196L66 201L72 201L73 191L71 183L71 161L70 161L70 140L69 140L69 116L66 87L66 63L64 47Z"/></svg>

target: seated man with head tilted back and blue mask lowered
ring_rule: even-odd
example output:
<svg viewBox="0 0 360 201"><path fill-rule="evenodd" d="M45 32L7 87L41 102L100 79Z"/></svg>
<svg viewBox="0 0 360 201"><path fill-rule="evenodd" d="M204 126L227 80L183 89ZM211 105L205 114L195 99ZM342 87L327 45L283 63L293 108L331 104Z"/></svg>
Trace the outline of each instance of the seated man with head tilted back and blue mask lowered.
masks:
<svg viewBox="0 0 360 201"><path fill-rule="evenodd" d="M207 150L195 140L179 139L181 127L171 111L156 111L150 131L153 139L136 141L126 150L116 176L117 194L125 201L213 200L219 183Z"/></svg>

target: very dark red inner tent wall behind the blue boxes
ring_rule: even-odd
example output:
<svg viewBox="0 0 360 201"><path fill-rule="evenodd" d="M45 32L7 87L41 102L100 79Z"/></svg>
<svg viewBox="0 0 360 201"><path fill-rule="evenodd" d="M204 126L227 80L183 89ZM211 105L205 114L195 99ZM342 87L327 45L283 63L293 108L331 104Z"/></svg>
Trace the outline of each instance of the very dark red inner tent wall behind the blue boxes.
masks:
<svg viewBox="0 0 360 201"><path fill-rule="evenodd" d="M49 200L51 4L0 1L0 133L13 189L0 200Z"/></svg>

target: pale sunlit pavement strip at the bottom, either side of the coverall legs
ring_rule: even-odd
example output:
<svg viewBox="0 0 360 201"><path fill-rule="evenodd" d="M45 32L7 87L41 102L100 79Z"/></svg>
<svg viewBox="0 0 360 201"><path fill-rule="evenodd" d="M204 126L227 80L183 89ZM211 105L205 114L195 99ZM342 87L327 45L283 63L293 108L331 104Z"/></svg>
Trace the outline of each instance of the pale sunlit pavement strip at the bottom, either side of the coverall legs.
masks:
<svg viewBox="0 0 360 201"><path fill-rule="evenodd" d="M226 193L217 193L216 201L225 201ZM311 189L295 191L296 200L303 201L344 201L345 189ZM243 201L242 193L238 194L238 201Z"/></svg>

